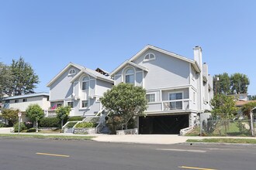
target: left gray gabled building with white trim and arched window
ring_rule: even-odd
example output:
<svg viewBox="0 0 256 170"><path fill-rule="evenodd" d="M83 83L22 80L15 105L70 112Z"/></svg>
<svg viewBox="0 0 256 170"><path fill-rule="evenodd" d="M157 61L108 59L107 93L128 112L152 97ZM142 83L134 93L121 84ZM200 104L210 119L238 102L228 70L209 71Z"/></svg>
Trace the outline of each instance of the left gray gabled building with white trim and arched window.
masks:
<svg viewBox="0 0 256 170"><path fill-rule="evenodd" d="M114 81L104 70L91 70L69 63L50 82L50 110L48 116L56 115L59 106L70 106L70 116L95 116L102 111L99 99Z"/></svg>

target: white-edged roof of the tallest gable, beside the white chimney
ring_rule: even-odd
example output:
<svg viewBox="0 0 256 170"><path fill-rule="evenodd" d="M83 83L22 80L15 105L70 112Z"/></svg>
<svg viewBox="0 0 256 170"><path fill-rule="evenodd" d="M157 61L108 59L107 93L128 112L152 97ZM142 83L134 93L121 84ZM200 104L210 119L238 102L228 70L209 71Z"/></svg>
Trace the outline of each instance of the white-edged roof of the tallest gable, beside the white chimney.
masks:
<svg viewBox="0 0 256 170"><path fill-rule="evenodd" d="M171 53L171 52L169 52L169 51L167 51L167 50L158 48L158 47L156 47L156 46L151 46L151 45L145 46L144 49L141 49L141 50L139 51L139 53L137 53L137 54L135 54L133 57L131 57L131 58L129 59L129 61L133 61L133 60L137 59L137 57L139 57L142 53L144 53L145 51L147 51L147 49L154 49L155 51L158 51L158 52L160 52L160 53L164 53L164 54L166 54L166 55L168 55L168 56L173 56L173 57L175 57L175 58L177 58L177 59L182 59L183 61L186 61L186 62L191 63L192 66L194 67L195 71L201 72L201 70L200 70L200 68L199 68L199 64L196 63L195 60L188 59L188 58L186 58L185 56L181 56L181 55L178 55L178 54L176 54L176 53Z"/></svg>

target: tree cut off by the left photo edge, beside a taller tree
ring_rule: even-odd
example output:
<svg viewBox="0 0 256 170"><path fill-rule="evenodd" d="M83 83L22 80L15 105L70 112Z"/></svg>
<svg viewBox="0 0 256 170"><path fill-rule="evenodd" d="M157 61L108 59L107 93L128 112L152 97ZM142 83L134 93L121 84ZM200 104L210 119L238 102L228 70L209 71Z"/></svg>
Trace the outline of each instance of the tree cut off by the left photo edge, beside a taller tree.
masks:
<svg viewBox="0 0 256 170"><path fill-rule="evenodd" d="M9 66L0 63L0 98L4 96L6 87L10 87L12 83L12 71Z"/></svg>

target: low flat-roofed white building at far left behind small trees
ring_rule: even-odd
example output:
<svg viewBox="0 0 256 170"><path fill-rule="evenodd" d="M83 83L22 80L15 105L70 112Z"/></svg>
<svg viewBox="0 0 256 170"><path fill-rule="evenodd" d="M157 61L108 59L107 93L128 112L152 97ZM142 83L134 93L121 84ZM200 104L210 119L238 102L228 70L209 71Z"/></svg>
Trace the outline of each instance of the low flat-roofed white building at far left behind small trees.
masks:
<svg viewBox="0 0 256 170"><path fill-rule="evenodd" d="M19 109L22 112L21 121L27 121L26 108L30 104L39 104L47 115L50 107L49 93L29 93L20 96L5 97L2 99L2 109Z"/></svg>

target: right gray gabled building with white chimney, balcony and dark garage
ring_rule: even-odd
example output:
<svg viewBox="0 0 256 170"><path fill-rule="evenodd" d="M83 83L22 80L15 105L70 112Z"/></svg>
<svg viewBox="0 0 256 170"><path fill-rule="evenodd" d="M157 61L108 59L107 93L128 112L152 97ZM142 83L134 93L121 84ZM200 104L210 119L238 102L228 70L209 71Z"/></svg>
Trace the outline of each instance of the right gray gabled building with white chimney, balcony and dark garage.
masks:
<svg viewBox="0 0 256 170"><path fill-rule="evenodd" d="M147 90L147 117L138 117L140 134L178 134L211 110L213 78L202 63L202 49L188 59L147 45L110 73L115 85L133 83Z"/></svg>

